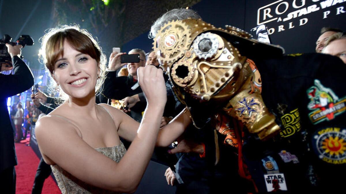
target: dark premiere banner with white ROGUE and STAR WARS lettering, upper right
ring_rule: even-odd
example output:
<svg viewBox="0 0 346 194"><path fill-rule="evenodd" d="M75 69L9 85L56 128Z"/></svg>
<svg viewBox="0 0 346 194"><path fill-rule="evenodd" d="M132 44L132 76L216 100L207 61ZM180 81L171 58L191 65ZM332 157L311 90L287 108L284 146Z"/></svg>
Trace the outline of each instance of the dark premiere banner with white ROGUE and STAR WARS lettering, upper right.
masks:
<svg viewBox="0 0 346 194"><path fill-rule="evenodd" d="M246 0L245 30L267 25L286 54L314 52L322 27L346 30L346 0Z"/></svg>

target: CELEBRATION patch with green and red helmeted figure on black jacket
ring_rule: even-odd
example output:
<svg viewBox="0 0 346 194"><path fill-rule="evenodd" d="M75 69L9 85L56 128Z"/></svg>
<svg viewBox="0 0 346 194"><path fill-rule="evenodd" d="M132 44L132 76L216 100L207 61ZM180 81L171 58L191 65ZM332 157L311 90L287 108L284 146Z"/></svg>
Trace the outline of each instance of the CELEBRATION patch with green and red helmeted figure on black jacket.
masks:
<svg viewBox="0 0 346 194"><path fill-rule="evenodd" d="M346 97L338 98L333 90L324 87L318 79L315 86L307 90L310 103L308 104L309 118L313 124L334 119L346 110Z"/></svg>

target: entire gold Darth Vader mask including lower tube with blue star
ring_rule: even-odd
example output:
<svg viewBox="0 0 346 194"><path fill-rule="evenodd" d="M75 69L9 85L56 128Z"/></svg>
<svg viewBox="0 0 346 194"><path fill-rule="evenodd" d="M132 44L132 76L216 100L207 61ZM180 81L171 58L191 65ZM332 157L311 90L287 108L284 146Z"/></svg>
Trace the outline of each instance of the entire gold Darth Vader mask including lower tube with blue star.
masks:
<svg viewBox="0 0 346 194"><path fill-rule="evenodd" d="M183 104L188 104L188 97L223 109L229 116L247 123L250 131L262 132L260 136L265 138L268 133L277 131L278 126L274 116L266 110L260 91L252 88L255 71L248 58L281 56L284 51L280 46L251 38L239 28L226 26L221 29L201 19L186 19L162 26L154 39L153 49ZM254 111L250 112L236 111L239 108L233 107L244 100L252 100L252 104L258 106L252 107ZM273 130L265 130L259 125L276 126Z"/></svg>

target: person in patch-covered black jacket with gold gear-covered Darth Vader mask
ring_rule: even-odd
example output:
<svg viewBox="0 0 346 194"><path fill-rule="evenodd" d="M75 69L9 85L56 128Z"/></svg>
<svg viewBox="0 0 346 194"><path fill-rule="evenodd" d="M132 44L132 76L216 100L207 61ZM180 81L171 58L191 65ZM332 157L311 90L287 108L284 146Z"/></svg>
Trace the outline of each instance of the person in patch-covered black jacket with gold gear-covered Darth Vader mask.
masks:
<svg viewBox="0 0 346 194"><path fill-rule="evenodd" d="M341 190L346 91L338 85L346 67L340 59L283 56L280 46L201 19L159 21L151 35L176 96L192 110L204 109L191 111L193 124L202 128L208 119L201 118L215 121L224 142L238 150L238 166L228 168L239 168L257 192ZM322 103L317 90L338 98L327 98L322 110L310 103ZM222 129L223 123L229 129Z"/></svg>

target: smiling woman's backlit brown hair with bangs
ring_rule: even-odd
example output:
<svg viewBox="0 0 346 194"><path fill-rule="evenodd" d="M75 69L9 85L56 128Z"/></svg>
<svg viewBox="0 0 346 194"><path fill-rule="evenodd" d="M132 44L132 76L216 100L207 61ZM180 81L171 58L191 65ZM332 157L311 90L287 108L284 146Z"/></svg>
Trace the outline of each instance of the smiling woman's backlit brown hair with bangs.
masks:
<svg viewBox="0 0 346 194"><path fill-rule="evenodd" d="M46 33L46 35L42 37L42 40L48 39L50 39L51 41L42 41L42 47L39 51L39 56L44 64L46 64L46 68L51 73L52 78L55 80L55 68L62 69L62 66L66 65L66 63L56 63L63 60L63 58L60 58L59 60L57 59L60 56L64 56L64 45L65 43L67 43L67 49L69 50L65 51L66 54L69 53L69 51L71 51L72 49L78 51L79 56L83 54L89 55L89 58L96 60L99 70L97 84L95 86L95 92L97 93L104 81L104 69L106 68L107 59L106 56L102 53L101 47L91 36L91 34L85 29L79 29L78 26L61 26L49 30L48 33ZM88 58L80 57L80 59L78 60L79 63L83 63L83 61L88 60ZM56 82L52 81L51 84L53 86L51 87L52 92L60 91L56 90ZM67 95L64 94L64 90L60 91L59 96L63 100L67 99Z"/></svg>

